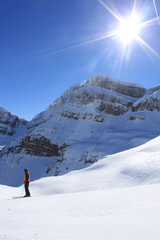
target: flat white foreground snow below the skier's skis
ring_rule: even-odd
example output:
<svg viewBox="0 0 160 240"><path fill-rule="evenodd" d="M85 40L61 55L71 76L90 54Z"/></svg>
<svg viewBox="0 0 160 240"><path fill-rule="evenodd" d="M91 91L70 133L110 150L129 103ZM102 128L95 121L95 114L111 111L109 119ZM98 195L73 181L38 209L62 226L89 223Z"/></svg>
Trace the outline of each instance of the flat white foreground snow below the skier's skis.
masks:
<svg viewBox="0 0 160 240"><path fill-rule="evenodd" d="M160 184L3 199L0 239L158 240L159 206Z"/></svg>

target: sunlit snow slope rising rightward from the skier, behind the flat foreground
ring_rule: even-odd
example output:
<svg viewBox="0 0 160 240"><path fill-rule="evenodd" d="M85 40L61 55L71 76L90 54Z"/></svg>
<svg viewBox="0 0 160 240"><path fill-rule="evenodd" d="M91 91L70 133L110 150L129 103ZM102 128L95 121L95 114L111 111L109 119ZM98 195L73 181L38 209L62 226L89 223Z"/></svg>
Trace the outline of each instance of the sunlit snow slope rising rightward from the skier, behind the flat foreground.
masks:
<svg viewBox="0 0 160 240"><path fill-rule="evenodd" d="M156 183L160 183L160 137L139 147L108 155L86 169L37 180L32 183L32 189L33 192L35 189L35 195L41 195Z"/></svg>

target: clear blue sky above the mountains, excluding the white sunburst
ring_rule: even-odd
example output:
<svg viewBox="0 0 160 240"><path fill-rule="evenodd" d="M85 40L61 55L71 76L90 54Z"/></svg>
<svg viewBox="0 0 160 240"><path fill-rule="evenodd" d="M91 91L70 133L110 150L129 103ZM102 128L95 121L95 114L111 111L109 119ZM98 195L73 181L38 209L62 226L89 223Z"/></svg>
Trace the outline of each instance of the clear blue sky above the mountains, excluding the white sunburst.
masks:
<svg viewBox="0 0 160 240"><path fill-rule="evenodd" d="M134 4L103 2L123 17ZM138 0L136 8L142 21L156 17L153 1ZM96 41L117 23L98 0L0 0L0 106L31 120L72 84L101 73L146 88L160 85L158 20L141 30L153 51L132 41L122 64L117 36Z"/></svg>

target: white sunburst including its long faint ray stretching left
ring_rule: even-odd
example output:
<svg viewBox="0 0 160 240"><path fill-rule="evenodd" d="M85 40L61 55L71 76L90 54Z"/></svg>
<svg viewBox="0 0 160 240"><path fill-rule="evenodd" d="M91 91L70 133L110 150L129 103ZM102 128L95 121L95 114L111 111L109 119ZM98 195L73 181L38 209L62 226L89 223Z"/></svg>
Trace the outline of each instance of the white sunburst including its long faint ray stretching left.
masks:
<svg viewBox="0 0 160 240"><path fill-rule="evenodd" d="M128 49L131 47L133 42L137 42L145 52L150 52L154 54L156 57L160 58L160 55L151 47L142 37L141 33L143 33L143 29L150 27L155 24L160 25L160 17L158 16L158 11L156 8L156 3L153 0L153 7L155 9L156 17L152 19L148 19L144 21L143 11L142 9L137 8L137 0L134 0L133 7L131 9L130 15L122 16L116 7L111 3L110 0L106 0L110 3L110 6L107 5L104 0L97 0L117 21L116 27L114 29L110 29L109 31L105 31L104 33L99 34L95 38L90 38L90 40L79 42L75 45L71 45L68 47L61 48L59 50L48 49L44 51L40 51L35 53L37 56L41 55L50 55L65 52L68 50L72 50L78 47L82 47L85 45L93 44L98 41L102 41L105 39L113 38L117 40L118 46L121 46L120 53L120 61L119 61L119 73L121 71L121 67L124 62L124 58ZM128 9L127 9L128 10ZM143 19L143 21L142 21ZM98 33L97 33L98 34Z"/></svg>

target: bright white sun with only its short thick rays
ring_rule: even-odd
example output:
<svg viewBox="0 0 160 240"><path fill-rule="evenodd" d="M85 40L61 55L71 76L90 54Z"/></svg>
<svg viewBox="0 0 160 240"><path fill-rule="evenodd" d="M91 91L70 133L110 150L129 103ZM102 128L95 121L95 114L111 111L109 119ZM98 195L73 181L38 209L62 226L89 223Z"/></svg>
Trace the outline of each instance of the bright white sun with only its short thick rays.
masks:
<svg viewBox="0 0 160 240"><path fill-rule="evenodd" d="M147 21L141 21L142 13L138 14L136 11L136 0L133 3L133 8L128 17L122 17L118 11L113 11L103 0L97 0L103 7L107 9L108 12L118 21L118 27L114 31L114 36L116 36L122 42L122 53L120 58L120 68L123 64L126 49L129 45L136 41L145 51L150 51L156 57L160 58L160 55L140 36L140 33L143 31L143 28L146 28L150 25L158 24L160 25L160 17L158 16L158 11L156 8L155 1L153 0L156 18L149 19ZM115 9L115 7L114 7ZM138 9L139 10L139 9ZM140 11L138 11L140 13ZM119 69L120 72L120 69Z"/></svg>

